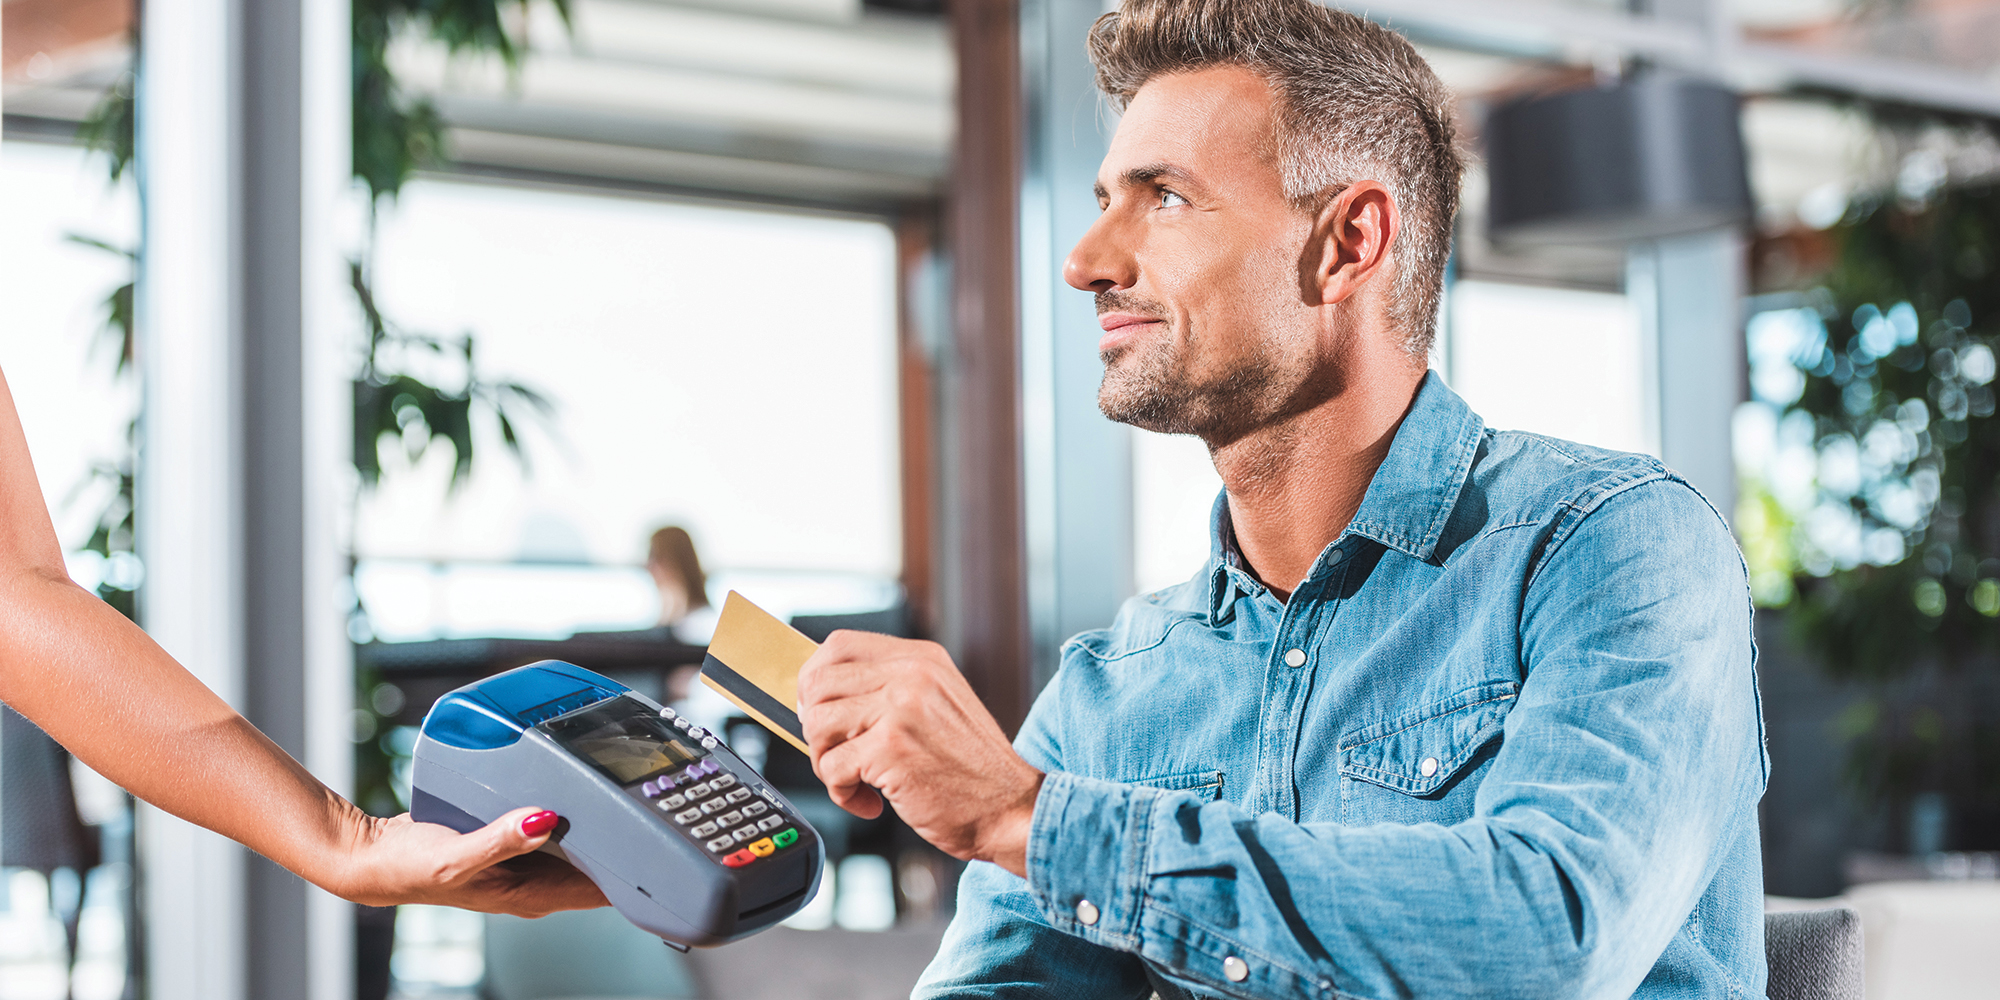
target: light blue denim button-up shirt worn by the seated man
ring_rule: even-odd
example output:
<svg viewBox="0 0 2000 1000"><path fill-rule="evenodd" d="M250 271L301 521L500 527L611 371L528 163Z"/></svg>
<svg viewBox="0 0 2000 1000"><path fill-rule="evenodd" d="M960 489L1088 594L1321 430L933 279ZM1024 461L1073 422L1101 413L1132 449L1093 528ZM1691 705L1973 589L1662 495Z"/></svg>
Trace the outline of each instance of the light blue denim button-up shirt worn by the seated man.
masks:
<svg viewBox="0 0 2000 1000"><path fill-rule="evenodd" d="M1660 462L1428 376L1290 600L1234 552L1062 648L930 996L1760 998L1750 590Z"/></svg>

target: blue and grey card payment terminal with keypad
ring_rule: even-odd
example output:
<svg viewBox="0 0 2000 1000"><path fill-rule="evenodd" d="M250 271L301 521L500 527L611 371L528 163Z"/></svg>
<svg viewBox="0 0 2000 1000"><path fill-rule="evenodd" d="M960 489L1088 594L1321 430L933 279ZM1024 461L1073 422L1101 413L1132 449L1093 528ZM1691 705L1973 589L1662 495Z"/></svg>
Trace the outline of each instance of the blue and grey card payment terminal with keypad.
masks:
<svg viewBox="0 0 2000 1000"><path fill-rule="evenodd" d="M410 786L418 822L460 832L520 806L554 810L562 824L542 850L676 948L748 938L820 886L818 834L720 738L558 660L438 698Z"/></svg>

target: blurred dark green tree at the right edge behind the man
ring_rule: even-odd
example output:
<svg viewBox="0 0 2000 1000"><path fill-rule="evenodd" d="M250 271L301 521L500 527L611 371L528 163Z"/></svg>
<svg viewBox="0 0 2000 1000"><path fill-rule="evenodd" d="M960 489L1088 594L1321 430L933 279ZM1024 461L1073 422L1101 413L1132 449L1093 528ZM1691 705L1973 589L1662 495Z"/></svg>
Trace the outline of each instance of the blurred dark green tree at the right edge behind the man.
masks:
<svg viewBox="0 0 2000 1000"><path fill-rule="evenodd" d="M1948 846L2000 848L2000 188L1858 198L1830 234L1786 408L1818 458L1792 622L1870 692L1840 720L1866 800L1942 796Z"/></svg>

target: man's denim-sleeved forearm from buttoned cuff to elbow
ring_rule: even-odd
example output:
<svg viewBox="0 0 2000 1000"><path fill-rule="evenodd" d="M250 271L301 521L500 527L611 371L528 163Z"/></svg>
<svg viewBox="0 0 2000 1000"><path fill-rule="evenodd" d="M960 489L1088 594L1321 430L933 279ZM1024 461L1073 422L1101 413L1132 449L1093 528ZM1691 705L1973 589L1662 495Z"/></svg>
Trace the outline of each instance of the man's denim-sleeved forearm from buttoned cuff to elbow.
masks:
<svg viewBox="0 0 2000 1000"><path fill-rule="evenodd" d="M1630 990L1678 918L1630 920L1622 906L1632 900L1594 892L1562 856L1508 822L1306 826L1186 792L1050 774L1028 892L1048 926L1146 958L1202 994ZM1566 912L1572 884L1586 892L1588 940ZM1658 902L1626 888L1646 910Z"/></svg>

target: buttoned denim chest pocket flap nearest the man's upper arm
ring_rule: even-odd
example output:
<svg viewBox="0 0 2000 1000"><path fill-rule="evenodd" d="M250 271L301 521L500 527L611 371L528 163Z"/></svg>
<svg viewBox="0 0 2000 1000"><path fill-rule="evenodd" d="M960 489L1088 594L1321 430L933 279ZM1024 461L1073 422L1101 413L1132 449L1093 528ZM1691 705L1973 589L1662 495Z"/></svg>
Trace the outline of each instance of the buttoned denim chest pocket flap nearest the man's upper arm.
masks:
<svg viewBox="0 0 2000 1000"><path fill-rule="evenodd" d="M1422 712L1356 732L1340 774L1412 796L1444 788L1482 746L1500 738L1520 684L1480 684Z"/></svg>

